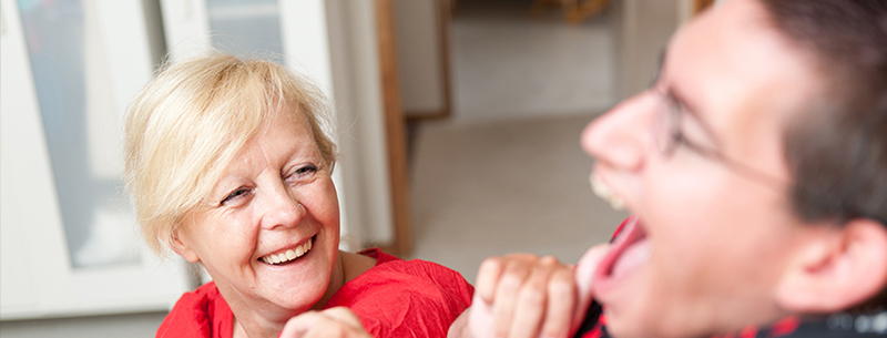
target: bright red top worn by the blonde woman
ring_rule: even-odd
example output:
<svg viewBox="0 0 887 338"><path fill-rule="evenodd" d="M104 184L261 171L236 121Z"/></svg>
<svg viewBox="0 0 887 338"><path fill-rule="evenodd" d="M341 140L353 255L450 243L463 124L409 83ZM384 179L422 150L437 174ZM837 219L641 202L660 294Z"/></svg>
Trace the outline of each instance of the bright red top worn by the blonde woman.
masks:
<svg viewBox="0 0 887 338"><path fill-rule="evenodd" d="M350 308L374 337L447 337L475 288L459 273L431 262L402 260L378 248L360 252L376 266L343 285L324 308ZM207 283L179 298L156 337L230 338L234 314Z"/></svg>

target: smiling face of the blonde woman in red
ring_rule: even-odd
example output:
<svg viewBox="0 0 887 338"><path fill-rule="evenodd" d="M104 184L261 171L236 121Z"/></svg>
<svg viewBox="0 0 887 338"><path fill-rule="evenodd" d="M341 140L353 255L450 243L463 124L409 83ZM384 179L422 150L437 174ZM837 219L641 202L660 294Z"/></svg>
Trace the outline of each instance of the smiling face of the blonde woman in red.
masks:
<svg viewBox="0 0 887 338"><path fill-rule="evenodd" d="M295 115L295 117L294 117ZM336 265L339 211L330 167L302 113L266 121L177 232L235 306L302 313Z"/></svg>

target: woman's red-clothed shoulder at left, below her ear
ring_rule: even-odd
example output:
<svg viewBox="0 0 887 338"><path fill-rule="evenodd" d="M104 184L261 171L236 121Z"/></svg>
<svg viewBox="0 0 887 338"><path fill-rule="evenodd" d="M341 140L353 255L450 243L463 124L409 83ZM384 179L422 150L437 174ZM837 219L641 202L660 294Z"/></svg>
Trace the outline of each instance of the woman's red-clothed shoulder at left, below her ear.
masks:
<svg viewBox="0 0 887 338"><path fill-rule="evenodd" d="M210 281L179 298L156 337L231 337L233 320L231 307Z"/></svg>

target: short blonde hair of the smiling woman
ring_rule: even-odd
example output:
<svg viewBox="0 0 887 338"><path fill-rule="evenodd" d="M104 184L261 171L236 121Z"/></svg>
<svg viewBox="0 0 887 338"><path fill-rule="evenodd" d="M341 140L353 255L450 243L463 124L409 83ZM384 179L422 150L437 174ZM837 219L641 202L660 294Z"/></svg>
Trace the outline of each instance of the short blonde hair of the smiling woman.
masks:
<svg viewBox="0 0 887 338"><path fill-rule="evenodd" d="M167 64L130 104L125 178L147 245L163 255L185 216L205 203L222 171L263 121L304 114L326 164L336 145L326 99L266 60L215 53Z"/></svg>

